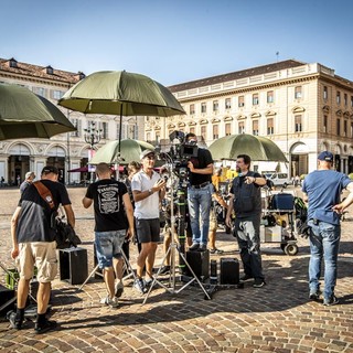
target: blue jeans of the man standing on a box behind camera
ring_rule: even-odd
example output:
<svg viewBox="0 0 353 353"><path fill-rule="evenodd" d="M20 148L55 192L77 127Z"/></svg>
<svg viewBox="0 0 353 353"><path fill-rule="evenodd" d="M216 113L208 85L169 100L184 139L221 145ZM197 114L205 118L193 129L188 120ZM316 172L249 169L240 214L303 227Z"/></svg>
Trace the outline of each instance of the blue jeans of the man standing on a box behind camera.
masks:
<svg viewBox="0 0 353 353"><path fill-rule="evenodd" d="M210 228L210 210L212 202L212 184L195 189L188 189L188 206L192 242L201 245L207 244ZM200 225L201 221L201 225Z"/></svg>

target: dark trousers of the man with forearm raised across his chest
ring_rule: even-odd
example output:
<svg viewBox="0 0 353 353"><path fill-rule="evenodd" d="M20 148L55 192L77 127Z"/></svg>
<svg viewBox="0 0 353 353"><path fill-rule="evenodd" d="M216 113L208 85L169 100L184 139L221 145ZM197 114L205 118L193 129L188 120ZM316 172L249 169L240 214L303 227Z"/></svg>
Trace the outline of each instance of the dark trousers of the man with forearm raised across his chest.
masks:
<svg viewBox="0 0 353 353"><path fill-rule="evenodd" d="M246 218L235 218L234 232L238 240L244 274L264 280L259 234L260 220L260 214Z"/></svg>

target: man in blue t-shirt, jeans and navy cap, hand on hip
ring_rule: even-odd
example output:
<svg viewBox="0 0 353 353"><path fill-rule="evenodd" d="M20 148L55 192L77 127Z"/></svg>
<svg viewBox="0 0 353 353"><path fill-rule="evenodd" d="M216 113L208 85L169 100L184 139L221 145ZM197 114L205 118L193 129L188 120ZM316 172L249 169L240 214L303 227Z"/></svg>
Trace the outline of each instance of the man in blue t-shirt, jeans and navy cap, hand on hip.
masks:
<svg viewBox="0 0 353 353"><path fill-rule="evenodd" d="M353 203L352 180L332 170L333 154L323 151L318 156L318 170L309 173L302 185L308 202L310 226L309 299L319 300L321 260L324 260L323 304L339 303L334 295L338 277L338 255L341 237L340 215ZM341 192L350 194L341 202Z"/></svg>

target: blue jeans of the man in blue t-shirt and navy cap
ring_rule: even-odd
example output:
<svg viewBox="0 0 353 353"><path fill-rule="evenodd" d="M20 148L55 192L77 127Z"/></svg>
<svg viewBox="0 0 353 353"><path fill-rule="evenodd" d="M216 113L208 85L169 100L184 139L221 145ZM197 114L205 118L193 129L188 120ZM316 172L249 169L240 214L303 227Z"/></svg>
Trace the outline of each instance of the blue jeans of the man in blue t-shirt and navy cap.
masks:
<svg viewBox="0 0 353 353"><path fill-rule="evenodd" d="M331 299L338 278L338 256L341 237L341 226L325 222L314 225L310 220L310 261L309 261L309 290L318 291L320 287L320 272L322 258L324 260L324 299Z"/></svg>

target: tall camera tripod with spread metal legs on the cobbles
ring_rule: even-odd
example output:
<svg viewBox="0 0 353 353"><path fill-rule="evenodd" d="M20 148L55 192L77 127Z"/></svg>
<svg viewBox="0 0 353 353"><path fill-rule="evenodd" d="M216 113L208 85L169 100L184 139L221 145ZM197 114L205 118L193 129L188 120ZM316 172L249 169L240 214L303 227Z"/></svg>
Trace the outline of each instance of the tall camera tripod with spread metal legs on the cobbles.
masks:
<svg viewBox="0 0 353 353"><path fill-rule="evenodd" d="M165 153L167 154L167 153ZM167 154L168 156L168 154ZM170 158L171 159L171 158ZM147 292L147 296L143 300L143 304L147 302L152 288L158 284L160 287L164 288L167 291L171 293L180 293L183 289L189 287L192 282L196 281L200 286L201 290L205 295L205 299L211 299L208 292L205 290L204 286L189 265L185 258L185 205L186 205L186 197L185 197L185 188L182 186L182 180L179 181L179 186L176 190L176 206L178 206L178 242L175 242L175 215L174 215L174 172L173 172L173 164L172 160L170 163L169 174L171 179L171 188L170 188L170 195L171 195L171 203L170 203L170 229L171 229L171 244L169 245L169 248L167 253L164 254L164 257L162 259L161 266L159 267L157 275L153 277L152 284ZM175 264L175 253L179 254L179 269L182 275L185 272L186 267L189 268L190 272L192 274L191 279L181 288L176 289L176 264ZM164 260L170 255L171 258L171 271L170 271L170 278L169 278L169 286L165 286L159 280L160 272L162 270Z"/></svg>

